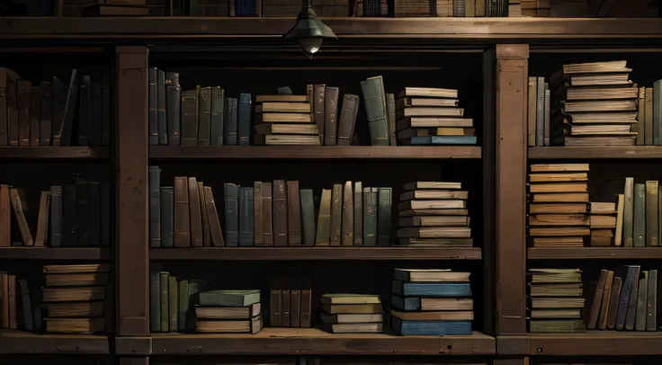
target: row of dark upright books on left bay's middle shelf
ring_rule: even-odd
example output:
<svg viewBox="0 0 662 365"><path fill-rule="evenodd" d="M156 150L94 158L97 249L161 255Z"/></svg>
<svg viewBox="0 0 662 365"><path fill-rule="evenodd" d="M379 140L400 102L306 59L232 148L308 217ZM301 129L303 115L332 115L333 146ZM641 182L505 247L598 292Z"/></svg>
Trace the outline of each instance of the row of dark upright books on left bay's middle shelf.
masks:
<svg viewBox="0 0 662 365"><path fill-rule="evenodd" d="M34 209L32 209L34 210ZM108 182L78 178L75 184L41 191L36 230L22 189L0 185L0 247L108 246L111 243L111 188ZM12 214L13 211L13 214ZM15 222L15 224L13 224ZM13 235L18 227L18 235Z"/></svg>

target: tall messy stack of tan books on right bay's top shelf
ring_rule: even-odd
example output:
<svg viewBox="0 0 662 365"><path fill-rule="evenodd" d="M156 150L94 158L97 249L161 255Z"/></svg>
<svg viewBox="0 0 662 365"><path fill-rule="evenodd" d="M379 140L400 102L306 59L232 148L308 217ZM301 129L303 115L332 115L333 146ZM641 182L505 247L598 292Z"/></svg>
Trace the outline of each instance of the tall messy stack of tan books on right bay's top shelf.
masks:
<svg viewBox="0 0 662 365"><path fill-rule="evenodd" d="M559 135L552 145L634 145L639 89L630 72L626 61L610 61L564 65L550 76L552 109L559 111L551 117L550 138Z"/></svg>

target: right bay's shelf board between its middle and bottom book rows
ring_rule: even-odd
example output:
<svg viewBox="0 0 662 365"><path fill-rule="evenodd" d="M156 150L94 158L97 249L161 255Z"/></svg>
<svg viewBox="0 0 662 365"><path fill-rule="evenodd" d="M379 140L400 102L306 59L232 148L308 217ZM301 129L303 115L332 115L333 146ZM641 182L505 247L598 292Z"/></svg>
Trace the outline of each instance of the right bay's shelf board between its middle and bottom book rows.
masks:
<svg viewBox="0 0 662 365"><path fill-rule="evenodd" d="M531 247L529 259L662 259L662 247Z"/></svg>

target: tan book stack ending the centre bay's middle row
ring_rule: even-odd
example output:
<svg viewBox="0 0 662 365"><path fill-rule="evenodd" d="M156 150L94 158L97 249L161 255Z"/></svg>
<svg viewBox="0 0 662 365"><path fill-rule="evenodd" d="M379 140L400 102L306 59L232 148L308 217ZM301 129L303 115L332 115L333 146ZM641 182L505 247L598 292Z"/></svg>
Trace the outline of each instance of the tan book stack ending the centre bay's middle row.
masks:
<svg viewBox="0 0 662 365"><path fill-rule="evenodd" d="M461 182L410 182L398 203L400 245L471 246L469 191Z"/></svg>

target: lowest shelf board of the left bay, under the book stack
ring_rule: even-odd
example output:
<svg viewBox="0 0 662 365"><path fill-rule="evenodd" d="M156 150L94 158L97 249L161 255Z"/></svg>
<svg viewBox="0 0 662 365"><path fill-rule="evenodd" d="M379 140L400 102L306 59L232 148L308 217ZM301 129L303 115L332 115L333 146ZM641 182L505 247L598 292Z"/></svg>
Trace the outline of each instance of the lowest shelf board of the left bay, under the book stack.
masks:
<svg viewBox="0 0 662 365"><path fill-rule="evenodd" d="M0 331L0 353L107 354L108 337L94 334L32 334Z"/></svg>

